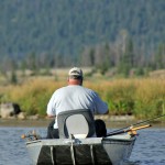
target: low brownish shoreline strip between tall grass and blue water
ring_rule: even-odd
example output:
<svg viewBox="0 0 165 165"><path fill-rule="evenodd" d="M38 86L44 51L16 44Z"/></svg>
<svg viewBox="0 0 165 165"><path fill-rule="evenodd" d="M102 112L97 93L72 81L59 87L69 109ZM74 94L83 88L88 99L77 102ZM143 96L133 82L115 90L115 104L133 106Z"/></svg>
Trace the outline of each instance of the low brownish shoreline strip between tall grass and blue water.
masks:
<svg viewBox="0 0 165 165"><path fill-rule="evenodd" d="M143 122L145 120L136 120L133 117L108 117L108 116L96 116L95 119L102 119L106 122L108 129L119 129L130 127ZM0 128L47 128L53 119L0 119ZM152 124L152 128L165 128L165 121L153 121L146 122L145 124ZM139 127L138 124L136 127Z"/></svg>

